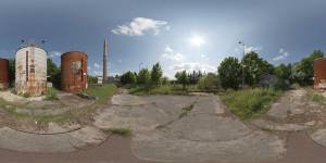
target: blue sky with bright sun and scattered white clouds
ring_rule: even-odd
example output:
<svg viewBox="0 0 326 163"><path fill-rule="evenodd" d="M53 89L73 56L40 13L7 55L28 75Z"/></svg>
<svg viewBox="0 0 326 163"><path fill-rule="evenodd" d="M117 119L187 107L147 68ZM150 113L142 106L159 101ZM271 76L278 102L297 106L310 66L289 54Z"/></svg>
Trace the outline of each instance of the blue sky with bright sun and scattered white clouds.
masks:
<svg viewBox="0 0 326 163"><path fill-rule="evenodd" d="M274 65L326 50L325 0L1 0L0 58L21 40L40 43L60 65L71 50L88 54L88 73L151 68L216 72L227 57L255 51Z"/></svg>

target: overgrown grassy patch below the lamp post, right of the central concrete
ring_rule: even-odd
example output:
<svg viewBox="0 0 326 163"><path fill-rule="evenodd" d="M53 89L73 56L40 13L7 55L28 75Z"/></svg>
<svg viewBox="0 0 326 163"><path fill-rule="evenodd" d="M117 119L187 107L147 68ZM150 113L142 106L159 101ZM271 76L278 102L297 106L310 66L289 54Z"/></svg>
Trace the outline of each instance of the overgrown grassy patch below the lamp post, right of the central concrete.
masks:
<svg viewBox="0 0 326 163"><path fill-rule="evenodd" d="M250 121L267 112L281 91L268 88L227 90L221 93L222 101L242 121Z"/></svg>

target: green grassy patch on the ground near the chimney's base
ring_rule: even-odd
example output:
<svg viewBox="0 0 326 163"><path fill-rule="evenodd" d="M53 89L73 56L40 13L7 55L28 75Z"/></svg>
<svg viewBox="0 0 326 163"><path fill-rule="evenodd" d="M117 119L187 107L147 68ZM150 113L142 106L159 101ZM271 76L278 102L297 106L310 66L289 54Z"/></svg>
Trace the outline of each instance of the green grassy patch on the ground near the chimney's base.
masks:
<svg viewBox="0 0 326 163"><path fill-rule="evenodd" d="M104 85L104 86L90 86L83 93L96 97L98 99L98 103L105 104L115 92L116 92L115 85Z"/></svg>

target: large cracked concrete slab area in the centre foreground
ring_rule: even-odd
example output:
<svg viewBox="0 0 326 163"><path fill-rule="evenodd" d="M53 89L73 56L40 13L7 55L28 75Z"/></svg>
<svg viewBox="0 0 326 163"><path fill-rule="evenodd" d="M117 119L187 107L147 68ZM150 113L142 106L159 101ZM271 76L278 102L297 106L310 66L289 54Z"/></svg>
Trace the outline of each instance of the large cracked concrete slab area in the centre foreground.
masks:
<svg viewBox="0 0 326 163"><path fill-rule="evenodd" d="M251 162L286 152L284 139L244 125L215 96L118 95L112 103L99 111L95 125L130 127L131 150L142 160Z"/></svg>

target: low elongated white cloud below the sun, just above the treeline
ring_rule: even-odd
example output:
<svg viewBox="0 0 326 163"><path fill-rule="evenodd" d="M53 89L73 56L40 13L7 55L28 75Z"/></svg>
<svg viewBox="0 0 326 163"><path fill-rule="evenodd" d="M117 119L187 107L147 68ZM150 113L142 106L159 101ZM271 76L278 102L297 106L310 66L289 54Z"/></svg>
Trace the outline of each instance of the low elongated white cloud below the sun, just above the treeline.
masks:
<svg viewBox="0 0 326 163"><path fill-rule="evenodd" d="M215 72L216 67L212 66L206 63L197 63L197 62L189 62L189 63L179 63L179 64L174 64L171 67L172 70L179 72L179 71L187 71L187 72L192 72L192 71L201 71L201 72Z"/></svg>

